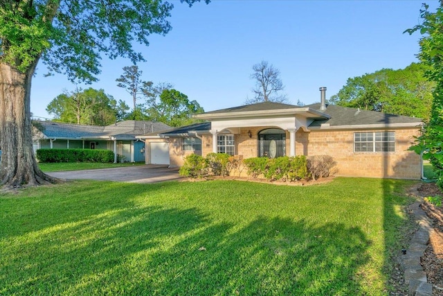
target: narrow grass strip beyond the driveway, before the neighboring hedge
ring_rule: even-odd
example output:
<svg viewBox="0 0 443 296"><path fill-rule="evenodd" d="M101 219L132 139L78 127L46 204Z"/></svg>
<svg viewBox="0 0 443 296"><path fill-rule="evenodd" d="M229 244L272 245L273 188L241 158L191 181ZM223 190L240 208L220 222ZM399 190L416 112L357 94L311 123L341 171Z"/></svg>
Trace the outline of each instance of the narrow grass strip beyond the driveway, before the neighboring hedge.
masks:
<svg viewBox="0 0 443 296"><path fill-rule="evenodd" d="M144 162L124 162L123 164L102 164L98 162L57 162L39 163L39 168L44 172L81 171L93 168L116 168L120 166L143 166Z"/></svg>

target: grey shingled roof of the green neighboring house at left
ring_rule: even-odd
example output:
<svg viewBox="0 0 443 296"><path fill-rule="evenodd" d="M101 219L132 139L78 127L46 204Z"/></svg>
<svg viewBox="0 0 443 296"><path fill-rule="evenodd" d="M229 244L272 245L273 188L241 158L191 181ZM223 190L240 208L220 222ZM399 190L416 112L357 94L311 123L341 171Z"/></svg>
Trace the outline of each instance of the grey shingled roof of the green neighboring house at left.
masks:
<svg viewBox="0 0 443 296"><path fill-rule="evenodd" d="M135 139L138 134L148 131L159 132L170 128L165 123L152 121L120 121L116 124L82 125L57 123L54 121L37 121L37 128L47 139Z"/></svg>

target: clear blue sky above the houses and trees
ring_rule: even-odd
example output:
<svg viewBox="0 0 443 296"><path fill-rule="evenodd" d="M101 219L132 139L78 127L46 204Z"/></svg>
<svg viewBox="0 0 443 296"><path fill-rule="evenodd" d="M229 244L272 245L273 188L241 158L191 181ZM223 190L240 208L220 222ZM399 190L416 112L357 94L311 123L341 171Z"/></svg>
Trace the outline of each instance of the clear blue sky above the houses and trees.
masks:
<svg viewBox="0 0 443 296"><path fill-rule="evenodd" d="M212 111L243 105L253 97L252 66L262 60L280 69L284 92L294 105L327 98L347 78L416 62L419 34L404 34L419 23L423 1L228 1L174 3L172 31L152 35L150 46L134 46L147 62L139 63L143 80L170 82ZM428 1L431 11L437 1ZM98 82L78 87L104 89L132 106L116 78L129 60L102 60ZM31 89L31 112L51 118L46 106L75 85L62 75L44 77L37 67Z"/></svg>

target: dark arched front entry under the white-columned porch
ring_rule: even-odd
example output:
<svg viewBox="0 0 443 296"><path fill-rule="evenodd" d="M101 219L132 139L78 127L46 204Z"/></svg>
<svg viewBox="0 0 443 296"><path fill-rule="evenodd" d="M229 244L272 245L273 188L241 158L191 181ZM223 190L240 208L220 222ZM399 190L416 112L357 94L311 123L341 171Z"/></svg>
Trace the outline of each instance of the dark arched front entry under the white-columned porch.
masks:
<svg viewBox="0 0 443 296"><path fill-rule="evenodd" d="M258 133L258 156L275 158L286 155L286 132L268 128Z"/></svg>

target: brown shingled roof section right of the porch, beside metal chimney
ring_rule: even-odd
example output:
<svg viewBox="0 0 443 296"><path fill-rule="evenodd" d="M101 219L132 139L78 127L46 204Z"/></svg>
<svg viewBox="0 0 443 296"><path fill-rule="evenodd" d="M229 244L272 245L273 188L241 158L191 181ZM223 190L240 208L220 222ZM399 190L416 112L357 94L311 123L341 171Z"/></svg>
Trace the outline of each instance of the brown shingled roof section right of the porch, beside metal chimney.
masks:
<svg viewBox="0 0 443 296"><path fill-rule="evenodd" d="M320 111L320 103L307 105L306 107ZM317 119L313 121L309 128L329 125L331 127L352 126L352 125L419 125L422 119L410 116L387 114L376 111L359 110L350 107L337 105L326 105L326 110L321 111L330 116L329 119Z"/></svg>

